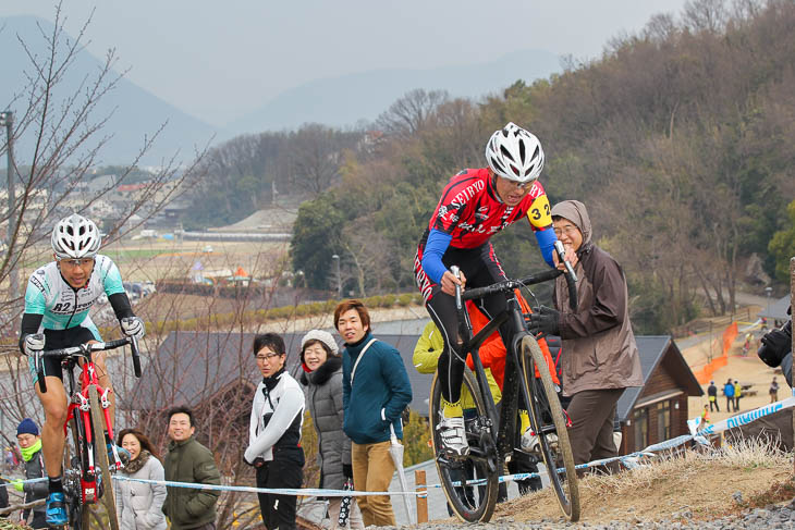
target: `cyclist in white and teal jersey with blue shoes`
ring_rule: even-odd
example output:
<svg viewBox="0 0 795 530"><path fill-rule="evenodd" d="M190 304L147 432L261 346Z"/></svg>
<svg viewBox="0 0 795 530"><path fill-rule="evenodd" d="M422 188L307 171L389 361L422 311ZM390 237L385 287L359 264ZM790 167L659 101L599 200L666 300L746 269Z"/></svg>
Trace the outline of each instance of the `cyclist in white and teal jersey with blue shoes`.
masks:
<svg viewBox="0 0 795 530"><path fill-rule="evenodd" d="M47 392L41 393L34 357L45 348L59 349L101 341L88 310L102 293L108 296L124 335L140 338L145 333L144 322L133 313L115 263L109 257L97 254L100 243L99 229L93 221L76 213L62 219L56 224L51 237L56 260L30 275L25 292L20 349L28 356L33 384L45 409L41 445L49 478L47 522L53 526L68 522L61 461L69 398L60 360L42 359ZM99 384L110 390L105 354L96 354L94 360ZM109 395L112 418L112 392ZM110 451L117 451L117 447Z"/></svg>

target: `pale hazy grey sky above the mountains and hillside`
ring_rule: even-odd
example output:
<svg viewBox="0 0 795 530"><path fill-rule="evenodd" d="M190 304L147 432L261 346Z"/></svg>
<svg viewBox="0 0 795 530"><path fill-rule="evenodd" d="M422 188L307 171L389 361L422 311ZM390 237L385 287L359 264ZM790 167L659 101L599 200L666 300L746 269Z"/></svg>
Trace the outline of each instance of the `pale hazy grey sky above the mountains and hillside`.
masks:
<svg viewBox="0 0 795 530"><path fill-rule="evenodd" d="M0 17L54 21L56 0L2 0ZM523 49L585 59L685 0L64 0L89 51L114 47L127 78L223 125L311 79L489 61Z"/></svg>

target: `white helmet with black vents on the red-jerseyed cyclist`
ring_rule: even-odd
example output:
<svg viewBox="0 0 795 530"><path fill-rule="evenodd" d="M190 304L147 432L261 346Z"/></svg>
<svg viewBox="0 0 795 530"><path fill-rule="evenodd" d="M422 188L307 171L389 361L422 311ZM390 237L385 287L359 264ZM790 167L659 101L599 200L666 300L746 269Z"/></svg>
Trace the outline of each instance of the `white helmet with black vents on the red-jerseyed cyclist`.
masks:
<svg viewBox="0 0 795 530"><path fill-rule="evenodd" d="M509 122L494 131L486 145L486 160L491 171L511 181L533 182L543 169L541 143L531 133Z"/></svg>

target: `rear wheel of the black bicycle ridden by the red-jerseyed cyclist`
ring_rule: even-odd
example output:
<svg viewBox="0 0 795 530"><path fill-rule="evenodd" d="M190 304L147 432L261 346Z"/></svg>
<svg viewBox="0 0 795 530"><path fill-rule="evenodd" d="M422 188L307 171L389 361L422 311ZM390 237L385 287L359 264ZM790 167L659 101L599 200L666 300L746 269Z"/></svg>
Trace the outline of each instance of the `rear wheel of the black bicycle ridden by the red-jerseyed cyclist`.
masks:
<svg viewBox="0 0 795 530"><path fill-rule="evenodd" d="M430 428L436 457L437 472L442 484L448 505L465 522L487 522L491 519L497 505L499 470L502 463L497 455L484 397L475 375L464 369L462 394L472 395L472 408L464 410L466 439L469 455L449 458L440 454L441 440L437 424L441 419L441 385L438 374L433 375L430 386ZM463 400L463 399L462 399Z"/></svg>

